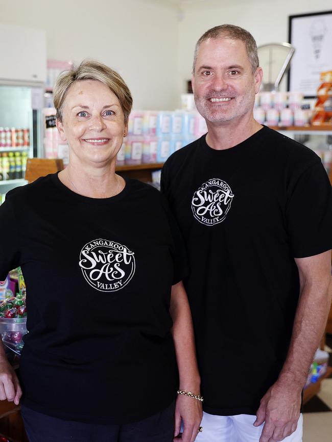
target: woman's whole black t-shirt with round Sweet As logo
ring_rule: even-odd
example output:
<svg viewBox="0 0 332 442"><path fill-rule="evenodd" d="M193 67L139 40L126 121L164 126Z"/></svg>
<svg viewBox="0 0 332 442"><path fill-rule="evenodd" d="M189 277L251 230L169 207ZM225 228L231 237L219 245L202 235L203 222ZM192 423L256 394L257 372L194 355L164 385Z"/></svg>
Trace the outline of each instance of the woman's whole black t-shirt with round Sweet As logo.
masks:
<svg viewBox="0 0 332 442"><path fill-rule="evenodd" d="M21 266L29 333L22 403L95 423L144 419L175 398L171 285L186 275L167 202L126 180L111 198L67 189L57 174L0 206L0 280Z"/></svg>

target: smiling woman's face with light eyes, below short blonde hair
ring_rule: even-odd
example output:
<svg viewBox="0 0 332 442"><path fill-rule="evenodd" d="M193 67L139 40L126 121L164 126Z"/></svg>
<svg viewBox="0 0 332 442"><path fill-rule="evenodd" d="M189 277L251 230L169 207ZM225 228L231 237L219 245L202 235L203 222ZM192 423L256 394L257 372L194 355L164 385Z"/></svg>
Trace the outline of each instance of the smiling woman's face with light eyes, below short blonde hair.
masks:
<svg viewBox="0 0 332 442"><path fill-rule="evenodd" d="M127 129L120 101L96 80L70 86L57 127L61 139L68 142L70 160L76 157L94 166L103 166L116 157Z"/></svg>

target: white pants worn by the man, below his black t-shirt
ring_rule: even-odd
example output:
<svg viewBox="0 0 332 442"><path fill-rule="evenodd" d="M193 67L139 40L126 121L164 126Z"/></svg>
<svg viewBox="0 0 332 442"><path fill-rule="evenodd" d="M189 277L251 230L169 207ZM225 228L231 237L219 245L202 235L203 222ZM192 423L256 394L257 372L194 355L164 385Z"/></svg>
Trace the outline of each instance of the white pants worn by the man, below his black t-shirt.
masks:
<svg viewBox="0 0 332 442"><path fill-rule="evenodd" d="M203 413L202 433L196 437L196 442L258 442L263 425L254 427L256 416L239 414L236 416L217 416ZM302 442L303 418L300 414L297 428L293 434L283 439L283 442Z"/></svg>

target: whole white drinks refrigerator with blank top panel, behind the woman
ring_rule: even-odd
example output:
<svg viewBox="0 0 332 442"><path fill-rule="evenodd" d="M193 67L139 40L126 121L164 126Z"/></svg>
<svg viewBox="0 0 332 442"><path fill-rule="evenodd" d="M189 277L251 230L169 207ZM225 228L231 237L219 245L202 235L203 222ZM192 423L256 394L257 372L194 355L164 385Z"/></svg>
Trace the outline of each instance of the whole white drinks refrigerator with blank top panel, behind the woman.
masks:
<svg viewBox="0 0 332 442"><path fill-rule="evenodd" d="M43 30L0 23L0 203L26 183L27 159L42 156L46 81Z"/></svg>

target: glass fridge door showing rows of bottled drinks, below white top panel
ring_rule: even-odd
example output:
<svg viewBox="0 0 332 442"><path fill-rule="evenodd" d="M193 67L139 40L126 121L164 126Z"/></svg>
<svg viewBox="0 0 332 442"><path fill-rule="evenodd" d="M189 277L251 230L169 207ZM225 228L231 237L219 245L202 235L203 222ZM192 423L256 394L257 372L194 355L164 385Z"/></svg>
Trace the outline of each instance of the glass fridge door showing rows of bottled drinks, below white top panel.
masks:
<svg viewBox="0 0 332 442"><path fill-rule="evenodd" d="M38 113L32 87L0 85L0 203L8 190L26 184L27 159L40 143Z"/></svg>

